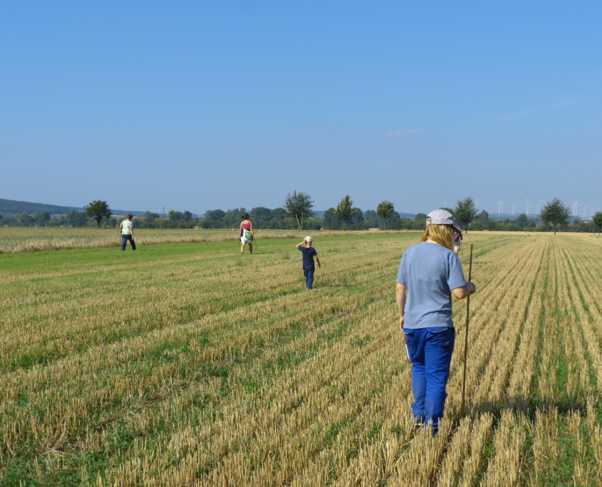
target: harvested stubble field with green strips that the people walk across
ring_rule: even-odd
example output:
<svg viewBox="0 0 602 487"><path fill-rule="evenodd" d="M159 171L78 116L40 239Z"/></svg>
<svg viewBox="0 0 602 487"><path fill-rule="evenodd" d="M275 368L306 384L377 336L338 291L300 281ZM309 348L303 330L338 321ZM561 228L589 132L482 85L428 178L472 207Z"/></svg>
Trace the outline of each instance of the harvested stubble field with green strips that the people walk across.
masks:
<svg viewBox="0 0 602 487"><path fill-rule="evenodd" d="M417 234L0 256L0 485L594 486L602 239L469 234L447 416L412 427L394 281Z"/></svg>

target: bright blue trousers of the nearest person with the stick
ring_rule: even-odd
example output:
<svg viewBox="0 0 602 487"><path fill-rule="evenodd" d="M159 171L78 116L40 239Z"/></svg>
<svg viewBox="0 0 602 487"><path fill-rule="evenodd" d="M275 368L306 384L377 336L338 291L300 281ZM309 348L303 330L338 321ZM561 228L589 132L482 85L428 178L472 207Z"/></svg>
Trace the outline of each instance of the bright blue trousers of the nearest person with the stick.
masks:
<svg viewBox="0 0 602 487"><path fill-rule="evenodd" d="M450 378L455 329L404 328L403 331L412 357L412 413L416 419L432 421L432 429L437 431L445 409L445 387Z"/></svg>

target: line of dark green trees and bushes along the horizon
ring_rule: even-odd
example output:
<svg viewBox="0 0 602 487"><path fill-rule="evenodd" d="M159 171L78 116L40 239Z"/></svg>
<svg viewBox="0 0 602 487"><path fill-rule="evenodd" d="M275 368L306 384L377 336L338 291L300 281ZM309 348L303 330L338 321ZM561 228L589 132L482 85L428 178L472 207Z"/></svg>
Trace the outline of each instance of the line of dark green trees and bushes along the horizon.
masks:
<svg viewBox="0 0 602 487"><path fill-rule="evenodd" d="M395 211L390 201L381 201L376 210L362 211L353 206L353 200L346 194L336 207L324 211L323 216L313 209L311 196L303 192L288 194L283 206L269 209L257 206L249 211L251 221L256 229L279 230L422 230L425 227L427 215L417 214L414 219L404 218ZM20 214L15 217L2 218L1 225L17 226L104 226L116 228L123 218L112 216L110 206L106 201L95 200L84 207L85 211L71 211L66 215L52 216L47 211L41 211L36 216ZM458 224L465 231L602 231L602 212L598 211L593 221L586 222L574 219L569 223L571 210L559 199L549 201L539 214L540 224L533 218L522 213L516 219L489 219L487 211L477 209L474 199L467 197L457 201L454 208L444 208L455 216ZM135 226L142 229L237 229L240 217L246 213L244 208L234 208L224 211L214 209L205 211L204 217L195 217L190 211L170 210L167 219L158 213L146 211L142 217L135 219Z"/></svg>

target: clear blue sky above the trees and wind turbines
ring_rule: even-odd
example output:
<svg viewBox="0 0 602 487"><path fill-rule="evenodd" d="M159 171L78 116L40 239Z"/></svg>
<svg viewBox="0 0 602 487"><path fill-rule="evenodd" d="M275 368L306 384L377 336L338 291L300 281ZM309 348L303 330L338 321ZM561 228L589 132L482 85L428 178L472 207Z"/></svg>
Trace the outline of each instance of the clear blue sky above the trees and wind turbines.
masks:
<svg viewBox="0 0 602 487"><path fill-rule="evenodd" d="M602 209L600 2L0 3L0 197ZM535 209L531 209L534 212ZM580 209L583 212L583 209Z"/></svg>

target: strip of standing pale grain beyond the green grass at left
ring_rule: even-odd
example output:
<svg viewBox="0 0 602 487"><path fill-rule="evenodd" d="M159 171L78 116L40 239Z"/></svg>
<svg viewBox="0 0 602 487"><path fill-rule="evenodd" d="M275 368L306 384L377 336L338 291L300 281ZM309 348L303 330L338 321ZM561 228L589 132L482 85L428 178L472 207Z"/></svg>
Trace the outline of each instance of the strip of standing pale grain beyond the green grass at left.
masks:
<svg viewBox="0 0 602 487"><path fill-rule="evenodd" d="M307 233L316 236L341 235L341 231L298 231L289 230L256 230L255 234L261 245L262 239L302 239ZM349 231L346 234L362 234L364 232ZM384 233L400 233L384 232ZM407 232L406 232L407 233ZM199 230L199 229L134 229L138 246L157 244L179 244L182 242L217 242L237 241L238 231L232 230ZM90 228L0 228L0 253L19 253L67 248L98 248L121 246L119 229ZM128 244L129 247L129 244Z"/></svg>

